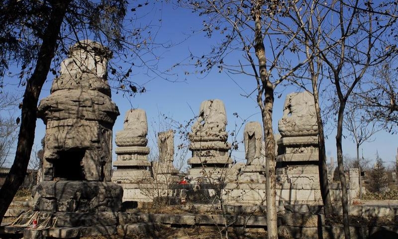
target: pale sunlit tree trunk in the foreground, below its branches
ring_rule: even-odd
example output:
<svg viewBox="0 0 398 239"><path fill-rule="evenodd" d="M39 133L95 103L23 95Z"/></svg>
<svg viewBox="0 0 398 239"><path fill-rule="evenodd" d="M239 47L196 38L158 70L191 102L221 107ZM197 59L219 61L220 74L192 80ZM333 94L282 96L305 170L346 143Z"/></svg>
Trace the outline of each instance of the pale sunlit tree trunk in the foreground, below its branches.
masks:
<svg viewBox="0 0 398 239"><path fill-rule="evenodd" d="M268 239L278 239L276 189L275 189L275 138L272 130L272 109L274 106L274 89L267 86L265 89L264 111L262 112L265 140L265 194L267 200L267 233Z"/></svg>

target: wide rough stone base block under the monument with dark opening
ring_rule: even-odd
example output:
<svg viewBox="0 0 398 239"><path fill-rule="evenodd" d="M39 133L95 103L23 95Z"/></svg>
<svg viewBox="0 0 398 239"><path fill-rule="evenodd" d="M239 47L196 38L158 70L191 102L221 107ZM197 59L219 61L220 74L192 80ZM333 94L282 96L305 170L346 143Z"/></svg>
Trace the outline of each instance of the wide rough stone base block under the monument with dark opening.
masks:
<svg viewBox="0 0 398 239"><path fill-rule="evenodd" d="M42 212L117 212L123 189L110 182L44 181L32 192L33 210Z"/></svg>

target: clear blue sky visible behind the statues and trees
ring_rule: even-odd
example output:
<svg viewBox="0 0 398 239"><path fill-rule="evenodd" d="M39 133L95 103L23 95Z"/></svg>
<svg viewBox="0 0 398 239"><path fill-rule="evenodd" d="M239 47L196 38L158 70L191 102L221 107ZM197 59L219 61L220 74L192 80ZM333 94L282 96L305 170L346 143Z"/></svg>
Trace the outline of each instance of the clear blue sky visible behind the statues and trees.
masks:
<svg viewBox="0 0 398 239"><path fill-rule="evenodd" d="M161 59L157 67L168 69L173 64L186 59L189 56L189 51L193 51L197 55L203 54L209 49L211 44L214 44L213 39L204 37L204 33L188 37L193 29L196 30L201 27L201 19L191 13L190 10L175 9L172 5L162 2L155 4L157 5L152 8L152 15L147 15L146 17L152 19L152 22L160 24L160 28L154 27L154 30L158 29L156 41L173 44L181 42L168 49L159 49L158 54L161 55ZM159 10L160 8L162 8L162 11ZM160 18L162 20L157 21ZM188 39L183 41L186 38ZM234 57L238 59L241 56L234 55ZM122 94L112 92L112 100L119 107L121 114L113 127L113 133L115 134L116 131L123 128L124 114L131 107L141 108L146 111L149 130L151 131L151 125L156 126L158 124L159 113L183 123L186 120L192 119L195 114L198 114L200 103L209 99L220 99L224 102L228 119L227 131L229 132L235 130L236 127L239 128L243 122L242 119L246 119L247 121L261 121L260 110L255 101L256 95L252 94L249 98L242 96L247 95L247 93L255 89L256 83L253 78L244 75L227 75L225 72L218 73L216 68L204 77L194 74L187 76L184 74L184 71L184 67L175 68L172 72L175 75L169 77L169 79L177 79L178 82L170 82L160 77L155 77L153 74L149 74L149 76L144 74L146 72L145 69L134 69L133 73L135 75L133 75L133 80L144 86L147 91L143 94L137 94L134 98L130 99L126 99ZM178 78L176 75L178 75ZM52 79L53 76L49 75L47 83L42 90L41 99L49 95ZM14 79L5 80L16 82ZM287 89L283 89L283 86L280 87L277 88L277 92L281 92L282 97L280 99L276 97L274 105L274 132L278 132L277 124L278 120L282 118L283 103L286 95L298 91L297 87L294 86ZM14 86L8 85L6 90L8 89L15 89L15 84ZM22 95L23 89L18 88L17 90L19 91L18 94ZM236 118L233 115L234 113L237 113L239 118ZM336 159L334 125L326 125L326 127L329 129L326 141L327 156ZM36 145L40 145L40 139L44 136L44 132L45 125L41 119L38 119L35 138ZM355 156L355 144L349 138L348 133L345 134L348 138L343 141L343 152L344 154ZM243 127L238 132L236 140L241 141L242 139ZM393 162L397 154L398 136L383 131L377 133L374 139L373 142L363 144L364 156L375 158L375 154L378 151L380 157L385 162ZM229 137L229 140L231 140L231 137ZM177 138L176 141L178 141ZM113 146L113 151L114 148L115 145ZM152 148L152 150L157 149ZM244 161L243 144L239 146L238 151L233 156L238 161ZM113 160L115 160L115 157Z"/></svg>

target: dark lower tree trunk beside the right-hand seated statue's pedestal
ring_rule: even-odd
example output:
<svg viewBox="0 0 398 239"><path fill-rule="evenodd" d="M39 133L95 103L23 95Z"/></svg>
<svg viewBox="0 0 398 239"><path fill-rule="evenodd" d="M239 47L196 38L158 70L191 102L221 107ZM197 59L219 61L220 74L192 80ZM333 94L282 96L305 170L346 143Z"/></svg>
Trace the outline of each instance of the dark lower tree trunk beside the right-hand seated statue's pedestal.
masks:
<svg viewBox="0 0 398 239"><path fill-rule="evenodd" d="M318 125L318 145L319 145L318 170L319 170L320 193L321 193L322 202L323 202L323 213L325 214L325 217L328 218L333 214L333 205L332 205L332 201L330 199L330 193L329 193L329 181L327 178L327 164L326 164L325 136L324 136L324 132L323 132L322 117L320 115L319 95L318 95L318 88L316 86L316 81L312 81L312 90L313 90L313 94L314 94L316 123Z"/></svg>

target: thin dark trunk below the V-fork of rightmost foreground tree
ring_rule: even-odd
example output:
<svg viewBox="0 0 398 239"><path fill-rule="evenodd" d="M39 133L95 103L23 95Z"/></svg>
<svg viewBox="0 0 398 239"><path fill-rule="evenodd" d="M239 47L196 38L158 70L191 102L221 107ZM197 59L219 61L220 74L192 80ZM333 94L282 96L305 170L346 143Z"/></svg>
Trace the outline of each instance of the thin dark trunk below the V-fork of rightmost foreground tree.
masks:
<svg viewBox="0 0 398 239"><path fill-rule="evenodd" d="M340 183L341 183L341 204L343 208L344 236L345 239L350 239L351 235L350 235L350 221L348 218L347 182L344 174L343 147L342 147L344 108L345 108L345 102L340 101L340 107L337 119L336 147L337 147L337 166L338 166Z"/></svg>

